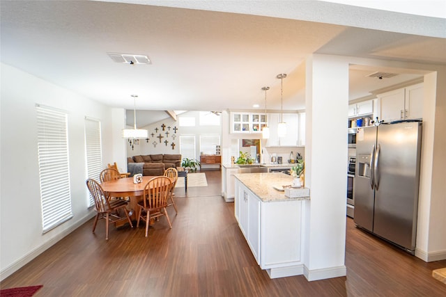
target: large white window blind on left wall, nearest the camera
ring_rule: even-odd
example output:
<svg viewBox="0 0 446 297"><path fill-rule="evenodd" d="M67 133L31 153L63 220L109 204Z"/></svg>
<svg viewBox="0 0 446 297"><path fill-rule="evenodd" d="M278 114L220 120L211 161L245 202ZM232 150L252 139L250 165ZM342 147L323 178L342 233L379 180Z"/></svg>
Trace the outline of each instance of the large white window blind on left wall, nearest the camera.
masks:
<svg viewBox="0 0 446 297"><path fill-rule="evenodd" d="M43 233L72 218L67 113L36 106Z"/></svg>

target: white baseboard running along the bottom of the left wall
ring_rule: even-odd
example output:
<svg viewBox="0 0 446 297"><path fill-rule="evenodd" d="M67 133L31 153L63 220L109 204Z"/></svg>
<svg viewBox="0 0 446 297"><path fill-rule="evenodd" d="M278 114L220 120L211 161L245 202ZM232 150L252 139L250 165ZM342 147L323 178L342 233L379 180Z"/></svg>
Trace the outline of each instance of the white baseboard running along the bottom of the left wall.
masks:
<svg viewBox="0 0 446 297"><path fill-rule="evenodd" d="M8 278L9 275L15 273L15 271L19 270L20 268L22 268L23 266L25 266L26 264L31 262L32 259L36 258L42 252L45 252L45 250L54 246L54 244L57 243L58 241L60 241L61 239L63 239L63 237L67 236L68 234L70 234L71 232L76 230L78 227L80 227L81 225L86 223L86 221L93 218L95 216L95 214L96 214L95 211L93 211L89 214L86 214L86 216L77 220L77 222L74 223L73 225L71 225L67 230L63 230L63 232L57 234L52 239L49 239L49 241L46 241L41 246L38 246L34 250L31 250L31 252L29 252L28 254L24 255L24 257L18 259L13 264L10 264L10 266L4 268L0 272L0 280L4 280L5 278Z"/></svg>

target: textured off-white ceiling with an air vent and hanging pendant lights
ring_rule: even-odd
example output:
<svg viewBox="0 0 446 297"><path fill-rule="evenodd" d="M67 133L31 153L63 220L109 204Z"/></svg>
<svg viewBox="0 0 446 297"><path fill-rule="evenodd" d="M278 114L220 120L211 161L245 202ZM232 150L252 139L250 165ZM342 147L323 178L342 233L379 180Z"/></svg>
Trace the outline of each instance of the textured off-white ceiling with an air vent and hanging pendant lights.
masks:
<svg viewBox="0 0 446 297"><path fill-rule="evenodd" d="M153 111L263 107L262 86L271 87L268 109L277 110L279 73L289 74L284 109L302 109L301 63L312 53L446 64L445 38L428 37L438 34L437 19L426 26L431 33L421 36L353 27L355 19L364 22L361 10L350 10L351 17L339 22L327 8L346 15L351 7L322 1L138 1L144 2L185 8L1 1L1 62L109 106L133 109L130 95L137 94L137 109ZM318 14L305 14L309 6ZM231 9L235 13L210 11ZM304 20L291 19L298 17ZM147 55L152 64L114 63L107 52ZM351 70L351 99L419 76L377 81L364 78L367 71Z"/></svg>

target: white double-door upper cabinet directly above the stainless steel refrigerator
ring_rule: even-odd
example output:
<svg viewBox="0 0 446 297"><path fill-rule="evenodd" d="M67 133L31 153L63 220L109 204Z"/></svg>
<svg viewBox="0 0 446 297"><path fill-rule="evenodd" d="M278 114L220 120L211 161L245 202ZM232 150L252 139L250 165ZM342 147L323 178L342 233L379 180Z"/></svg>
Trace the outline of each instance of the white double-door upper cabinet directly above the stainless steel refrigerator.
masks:
<svg viewBox="0 0 446 297"><path fill-rule="evenodd" d="M380 119L385 122L422 118L423 83L380 94L378 99Z"/></svg>

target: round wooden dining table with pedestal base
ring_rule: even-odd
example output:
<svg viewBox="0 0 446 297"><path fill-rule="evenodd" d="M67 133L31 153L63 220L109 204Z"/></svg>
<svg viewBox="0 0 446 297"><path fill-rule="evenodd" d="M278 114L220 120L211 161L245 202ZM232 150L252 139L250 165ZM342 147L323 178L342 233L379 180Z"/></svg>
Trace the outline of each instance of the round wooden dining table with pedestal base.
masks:
<svg viewBox="0 0 446 297"><path fill-rule="evenodd" d="M144 186L149 180L157 176L143 176L142 182L139 184L133 183L133 177L125 177L121 179L114 179L100 184L109 197L130 197L128 210L132 211L131 220L137 220L138 202L144 193ZM119 224L116 225L118 227Z"/></svg>

